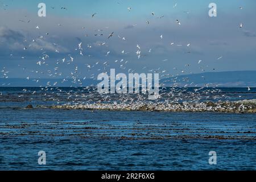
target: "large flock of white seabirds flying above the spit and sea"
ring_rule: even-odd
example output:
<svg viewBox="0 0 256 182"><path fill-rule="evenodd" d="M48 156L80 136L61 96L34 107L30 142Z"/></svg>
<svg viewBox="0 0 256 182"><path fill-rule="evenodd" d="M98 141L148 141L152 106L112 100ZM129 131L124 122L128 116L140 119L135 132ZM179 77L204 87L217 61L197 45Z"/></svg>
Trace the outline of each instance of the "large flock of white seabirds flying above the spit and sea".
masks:
<svg viewBox="0 0 256 182"><path fill-rule="evenodd" d="M175 3L175 5L173 6L173 8L176 8L178 5L177 3ZM3 5L4 10L7 10L8 5ZM51 7L52 9L56 9L56 7ZM240 9L242 9L242 7L239 7ZM65 10L68 11L68 7L60 7L61 10ZM127 10L132 13L133 12L133 8L132 7L127 7ZM185 13L189 14L188 11L186 11ZM91 15L92 19L96 19L97 15L100 13L93 13ZM156 16L156 14L154 12L148 12L148 14L154 18L159 18L162 19L164 18L164 15L160 15L160 16ZM27 18L27 17L26 17ZM22 19L18 19L19 22L22 23L31 23L32 21L27 19L27 20L22 20ZM146 24L150 24L150 20L145 20ZM180 20L176 19L176 24L177 26L181 26L182 22L180 22ZM62 24L58 24L58 26L62 26ZM134 25L136 26L136 24ZM81 27L82 29L85 29L85 27ZM240 24L240 28L242 28L242 23ZM38 30L38 32L40 33L40 25L36 25L35 29ZM117 36L121 41L126 41L126 37L125 36L121 36L118 35L115 31L111 31L111 32L106 32L108 27L106 28L102 28L102 29L97 29L95 30L95 34L93 35L88 35L86 34L85 36L94 36L95 38L97 38L97 36L105 36L105 42L97 42L97 46L102 47L104 46L105 48L109 47L109 40L113 38L113 36ZM105 33L106 32L106 33ZM28 49L30 49L30 47L33 47L34 44L36 42L40 42L40 40L44 40L45 36L51 35L51 32L45 32L44 34L40 34L38 37L35 37L34 39L30 40L23 40L23 43L25 43L27 46L23 47L23 51L24 51L24 55L26 55L26 51L28 51ZM164 39L163 35L159 35L160 39ZM52 43L53 46L56 47L55 49L55 53L56 54L60 54L61 55L61 51L60 49L58 49L57 47L59 46L58 43ZM176 44L175 42L171 42L170 46L183 46L181 44ZM190 48L192 46L191 43L187 43L185 45L185 47ZM47 100L53 100L56 101L58 104L63 101L63 97L56 97L56 96L65 96L67 97L67 101L68 104L86 104L88 102L95 102L94 98L97 98L97 102L106 102L106 101L111 101L113 99L112 96L109 95L98 95L97 97L95 96L95 94L97 93L96 88L93 87L83 87L83 81L86 80L86 78L89 79L93 79L93 80L97 80L97 74L101 73L101 72L105 72L105 73L109 73L110 71L110 64L114 63L116 65L118 65L118 68L125 70L127 73L136 73L135 69L131 69L129 67L127 67L127 63L129 63L128 60L126 59L118 59L118 60L112 60L112 61L101 61L101 60L95 60L93 64L84 64L84 67L80 68L77 64L76 64L76 59L75 57L77 56L88 56L93 57L93 55L87 55L86 51L85 51L85 47L86 49L92 49L93 45L87 44L86 46L84 46L84 42L78 42L77 43L77 47L75 47L75 53L73 53L73 55L68 54L65 57L59 57L59 59L57 59L55 61L54 64L50 64L48 60L50 60L51 56L49 53L47 53L47 51L44 49L44 47L42 46L42 48L40 49L41 55L39 56L38 60L35 62L35 69L32 69L30 71L27 70L26 67L22 66L22 62L18 65L18 67L22 68L23 71L23 75L26 77L27 80L29 81L33 81L36 82L38 84L40 84L40 76L38 78L31 78L30 73L38 73L38 74L47 74L49 77L51 78L59 78L59 77L63 77L63 72L61 72L60 70L60 65L65 65L65 68L72 68L69 76L66 76L65 78L61 78L61 83L67 82L68 80L71 80L72 82L72 86L76 85L76 86L80 86L81 89L79 90L63 90L61 88L59 88L59 82L58 81L51 81L51 79L49 79L49 81L47 82L46 85L41 85L40 90L31 90L31 93L37 94L40 93L42 94L42 97L44 98L45 101ZM122 55L127 55L127 54L134 54L134 56L137 57L137 59L143 59L144 57L146 57L146 53L144 53L142 51L141 45L138 43L134 49L136 51L134 51L134 53L130 53L130 52L126 52L125 50L121 51ZM148 49L147 51L147 55L149 55L152 51L154 51L153 49ZM188 51L188 53L190 53L191 51ZM98 53L98 52L97 52ZM106 51L104 53L106 57L108 57L111 54L111 51ZM26 56L21 56L20 58L26 59ZM13 56L13 54L10 55L11 57ZM222 56L219 56L217 58L217 60L222 59ZM163 62L168 61L168 59L164 59L162 60ZM202 72L205 71L205 68L202 66L200 66L202 64L203 60L198 60L196 61L196 64L199 65L200 69ZM53 67L52 67L53 65ZM185 64L184 67L189 67L190 64ZM208 67L208 66L206 66ZM37 69L38 68L38 69ZM96 72L92 72L92 69L94 69L94 71ZM166 89L165 87L165 83L166 82L172 82L173 83L173 87L176 88L179 86L179 82L180 81L186 81L186 78L183 78L183 80L179 80L180 78L178 77L179 74L174 75L171 74L172 71L179 71L180 73L185 73L186 71L184 69L177 69L177 68L172 68L173 70L168 70L166 68L155 68L155 69L149 69L148 67L143 67L142 68L144 70L144 72L151 72L151 73L160 73L160 77L161 78L166 78L164 80L164 82L162 82L160 84L160 99L165 99L168 101L172 101L172 102L180 102L182 100L186 100L187 98L189 98L190 100L193 101L200 101L202 100L202 98L207 99L208 97L212 97L212 96L208 96L209 93L214 93L217 92L219 93L220 90L219 89L205 89L208 88L209 84L205 84L204 87L198 88L193 90L193 92L186 92L184 93L184 90L182 89ZM215 70L215 68L213 68L213 70ZM86 73L91 73L90 76L84 76L81 77L82 72L86 72ZM8 71L5 67L2 68L1 70L2 73L2 78L9 78L9 74L10 71ZM192 72L188 72L188 73L192 73ZM187 80L188 84L184 85L184 88L193 85L193 82L189 82L189 80ZM3 83L2 86L11 86L11 83ZM193 86L197 86L197 85L193 85ZM215 85L218 86L218 85ZM205 89L205 90L204 90ZM167 92L168 90L168 92ZM200 90L203 90L202 92L199 92ZM250 88L248 87L248 90L250 90ZM23 89L23 94L20 94L18 97L20 99L22 99L23 97L26 97L26 93L28 92L27 89ZM42 93L43 92L43 93ZM86 92L87 94L84 94L83 92ZM200 94L199 94L200 93ZM1 93L2 94L2 93ZM144 97L143 95L138 95L137 97L127 97L127 95L125 94L125 96L114 96L117 97L117 99L113 102L116 101L121 101L121 102L135 102L135 101L139 101L139 100L146 100L146 97ZM217 95L217 96L213 96L214 98L211 98L213 100L221 100L221 97L227 97L225 95ZM82 98L82 100L81 100Z"/></svg>

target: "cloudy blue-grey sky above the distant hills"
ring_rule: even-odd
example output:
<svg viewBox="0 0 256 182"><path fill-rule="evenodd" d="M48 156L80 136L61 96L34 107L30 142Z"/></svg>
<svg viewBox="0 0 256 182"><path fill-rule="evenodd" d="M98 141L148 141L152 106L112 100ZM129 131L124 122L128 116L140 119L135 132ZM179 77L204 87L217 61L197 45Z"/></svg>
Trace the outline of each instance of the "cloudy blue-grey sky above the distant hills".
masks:
<svg viewBox="0 0 256 182"><path fill-rule="evenodd" d="M46 17L38 16L42 2ZM212 2L216 17L208 15ZM253 0L0 1L0 77L256 70L255 7Z"/></svg>

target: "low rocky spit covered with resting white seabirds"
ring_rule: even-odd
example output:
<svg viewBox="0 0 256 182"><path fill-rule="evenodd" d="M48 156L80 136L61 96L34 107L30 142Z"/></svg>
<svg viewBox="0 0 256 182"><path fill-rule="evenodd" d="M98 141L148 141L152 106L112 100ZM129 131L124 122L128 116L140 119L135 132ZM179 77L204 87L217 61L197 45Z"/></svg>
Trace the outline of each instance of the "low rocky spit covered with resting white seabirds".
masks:
<svg viewBox="0 0 256 182"><path fill-rule="evenodd" d="M256 99L220 102L133 102L133 103L94 103L49 106L52 109L87 109L119 111L172 111L172 112L220 112L256 113Z"/></svg>

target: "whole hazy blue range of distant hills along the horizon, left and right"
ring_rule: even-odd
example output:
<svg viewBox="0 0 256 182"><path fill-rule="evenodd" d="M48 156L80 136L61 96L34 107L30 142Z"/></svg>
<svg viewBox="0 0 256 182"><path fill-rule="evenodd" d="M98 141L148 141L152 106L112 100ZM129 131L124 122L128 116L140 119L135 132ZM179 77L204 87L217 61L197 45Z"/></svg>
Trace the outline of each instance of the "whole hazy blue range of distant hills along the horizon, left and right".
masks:
<svg viewBox="0 0 256 182"><path fill-rule="evenodd" d="M39 80L36 82L36 80ZM81 79L82 84L73 82L72 79L53 78L0 78L0 86L47 86L47 82L53 86L96 86L99 81L93 79ZM232 71L232 72L207 72L192 75L182 75L164 78L159 81L165 86L216 86L218 87L256 87L256 71Z"/></svg>

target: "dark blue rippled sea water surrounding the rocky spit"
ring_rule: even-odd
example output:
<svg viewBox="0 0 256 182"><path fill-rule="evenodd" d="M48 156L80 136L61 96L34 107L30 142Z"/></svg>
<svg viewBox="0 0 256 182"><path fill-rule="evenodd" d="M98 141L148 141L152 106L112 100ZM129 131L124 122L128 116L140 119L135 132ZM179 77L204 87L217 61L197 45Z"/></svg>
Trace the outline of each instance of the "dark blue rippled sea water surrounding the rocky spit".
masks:
<svg viewBox="0 0 256 182"><path fill-rule="evenodd" d="M256 169L255 113L51 109L36 105L99 97L81 88L23 89L0 88L0 170ZM193 89L182 92L193 100ZM196 98L235 101L255 94L254 88L226 88ZM28 104L34 109L24 109ZM39 151L46 152L46 165L38 164ZM216 165L209 164L209 151L216 151Z"/></svg>

